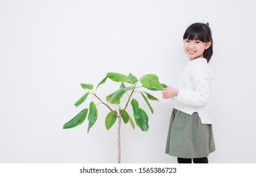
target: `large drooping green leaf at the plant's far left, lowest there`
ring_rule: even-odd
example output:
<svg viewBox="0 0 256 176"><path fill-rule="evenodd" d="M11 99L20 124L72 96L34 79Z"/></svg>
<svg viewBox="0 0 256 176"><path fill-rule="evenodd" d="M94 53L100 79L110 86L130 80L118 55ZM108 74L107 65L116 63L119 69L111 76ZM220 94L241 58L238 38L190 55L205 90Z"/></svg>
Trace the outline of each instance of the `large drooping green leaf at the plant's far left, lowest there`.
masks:
<svg viewBox="0 0 256 176"><path fill-rule="evenodd" d="M80 111L80 113L78 113L74 118L72 118L70 121L63 125L63 129L73 128L75 126L78 126L78 124L82 124L83 121L85 121L87 112L88 108L85 108L82 111Z"/></svg>

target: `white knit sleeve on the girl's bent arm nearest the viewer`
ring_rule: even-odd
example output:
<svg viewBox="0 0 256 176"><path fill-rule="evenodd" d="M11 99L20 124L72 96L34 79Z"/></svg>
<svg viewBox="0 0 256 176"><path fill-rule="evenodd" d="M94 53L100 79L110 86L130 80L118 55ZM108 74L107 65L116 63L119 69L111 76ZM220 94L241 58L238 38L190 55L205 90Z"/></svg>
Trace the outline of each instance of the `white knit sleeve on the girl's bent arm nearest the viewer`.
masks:
<svg viewBox="0 0 256 176"><path fill-rule="evenodd" d="M210 75L207 68L193 69L190 79L190 89L179 90L176 99L190 106L204 106L210 97Z"/></svg>

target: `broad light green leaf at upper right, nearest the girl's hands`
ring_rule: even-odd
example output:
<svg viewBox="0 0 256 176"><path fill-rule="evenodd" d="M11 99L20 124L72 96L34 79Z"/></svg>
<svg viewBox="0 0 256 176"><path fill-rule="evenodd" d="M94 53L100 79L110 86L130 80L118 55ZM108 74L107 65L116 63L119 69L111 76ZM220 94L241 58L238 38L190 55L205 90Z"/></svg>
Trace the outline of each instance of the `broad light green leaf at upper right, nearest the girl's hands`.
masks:
<svg viewBox="0 0 256 176"><path fill-rule="evenodd" d="M143 87L146 87L152 91L162 91L164 88L162 84L160 84L157 75L154 74L144 75L140 78L140 82L142 83Z"/></svg>

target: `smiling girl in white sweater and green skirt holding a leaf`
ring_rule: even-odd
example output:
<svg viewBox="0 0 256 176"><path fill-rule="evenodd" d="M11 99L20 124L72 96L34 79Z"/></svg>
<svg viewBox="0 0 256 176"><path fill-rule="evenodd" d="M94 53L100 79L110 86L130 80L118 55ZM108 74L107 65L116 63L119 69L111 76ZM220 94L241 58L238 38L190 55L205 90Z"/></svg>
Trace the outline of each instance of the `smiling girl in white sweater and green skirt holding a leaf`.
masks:
<svg viewBox="0 0 256 176"><path fill-rule="evenodd" d="M174 97L166 153L178 163L208 163L215 150L212 134L212 80L208 66L212 57L209 23L194 23L183 35L183 49L190 58L183 70L178 89L168 86L162 97Z"/></svg>

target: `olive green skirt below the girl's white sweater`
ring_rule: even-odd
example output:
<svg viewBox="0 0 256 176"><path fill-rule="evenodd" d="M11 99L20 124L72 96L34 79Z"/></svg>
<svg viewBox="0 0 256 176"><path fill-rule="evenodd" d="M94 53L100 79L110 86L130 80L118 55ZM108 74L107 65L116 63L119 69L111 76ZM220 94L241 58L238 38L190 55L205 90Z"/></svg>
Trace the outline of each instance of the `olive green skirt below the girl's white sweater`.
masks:
<svg viewBox="0 0 256 176"><path fill-rule="evenodd" d="M166 154L180 158L208 157L215 150L211 124L202 124L192 115L173 109L166 141Z"/></svg>

